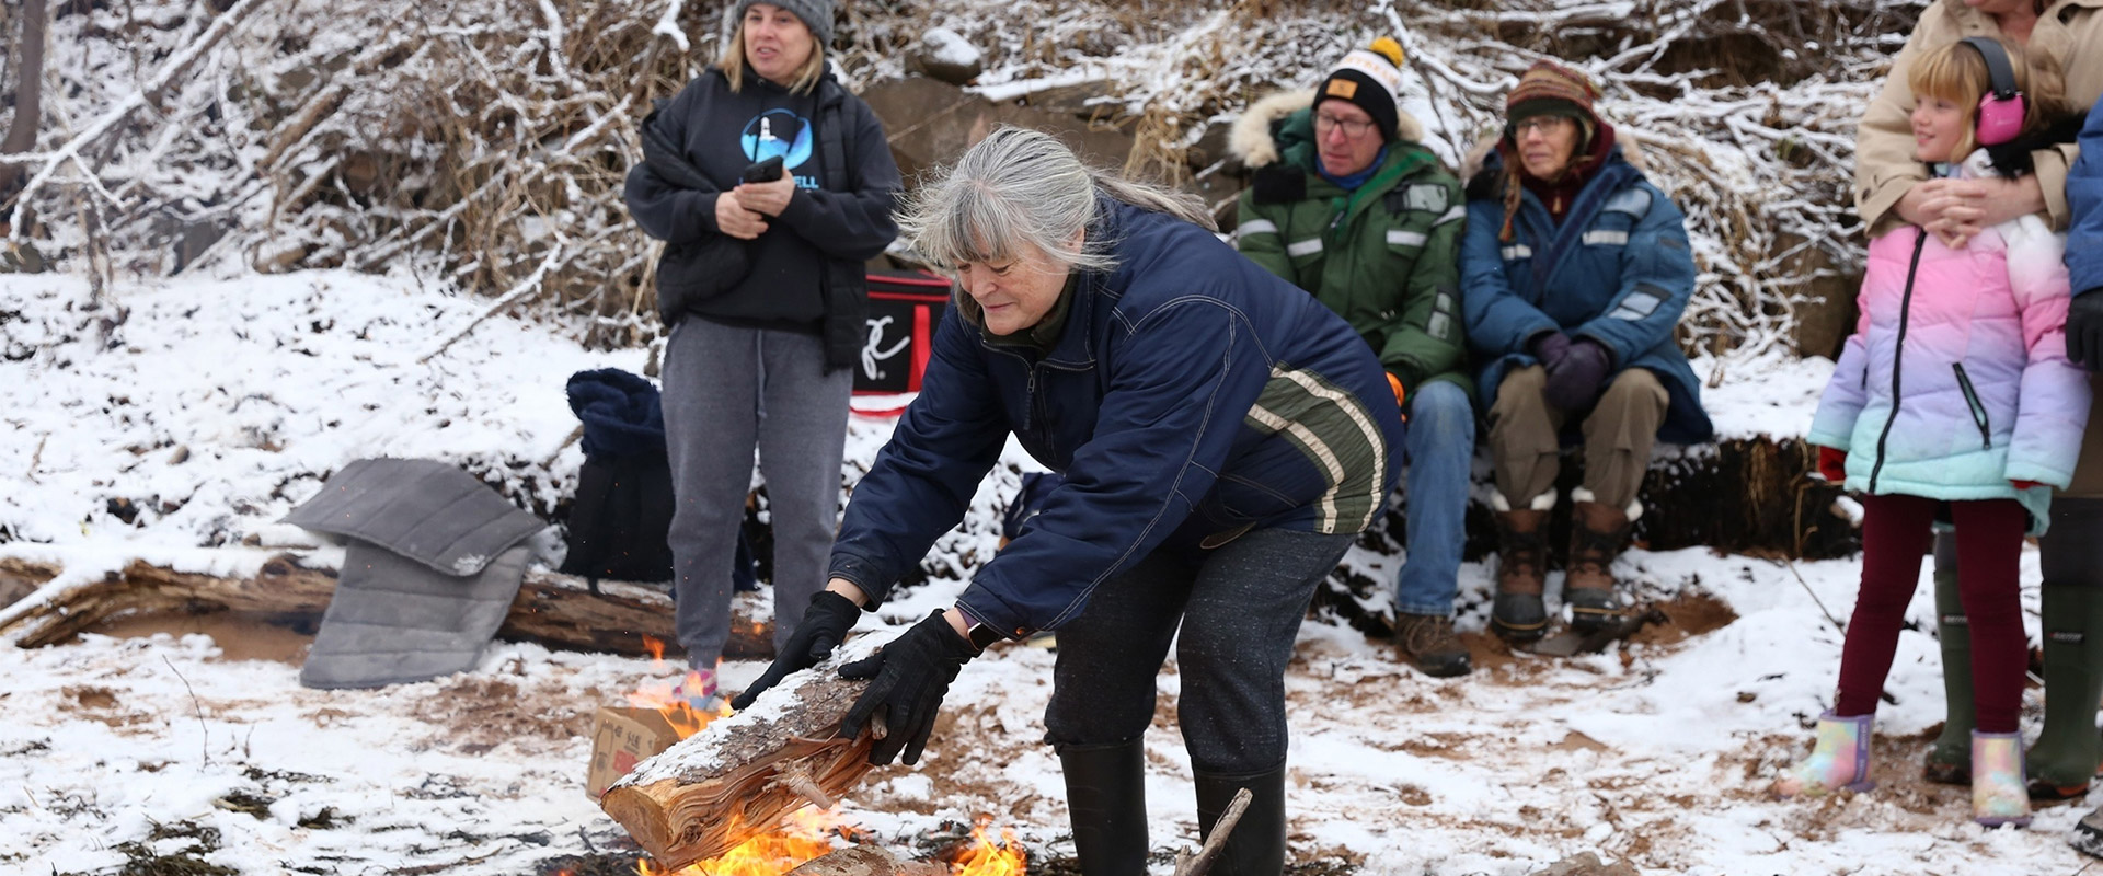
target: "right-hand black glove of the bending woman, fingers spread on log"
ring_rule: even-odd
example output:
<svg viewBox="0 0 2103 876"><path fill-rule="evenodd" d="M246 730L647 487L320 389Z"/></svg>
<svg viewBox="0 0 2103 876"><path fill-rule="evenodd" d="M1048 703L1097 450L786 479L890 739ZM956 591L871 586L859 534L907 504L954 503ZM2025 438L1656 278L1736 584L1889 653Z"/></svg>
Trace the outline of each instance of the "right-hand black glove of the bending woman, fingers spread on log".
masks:
<svg viewBox="0 0 2103 876"><path fill-rule="evenodd" d="M934 714L942 708L948 683L957 681L957 670L976 655L978 649L948 626L942 611L913 624L881 651L839 668L841 679L875 679L854 702L854 708L848 708L848 716L839 721L839 735L848 739L862 735L869 716L881 708L885 733L869 750L869 765L892 763L900 748L906 752L906 765L919 763L919 752L927 748L927 733L934 731Z"/></svg>

